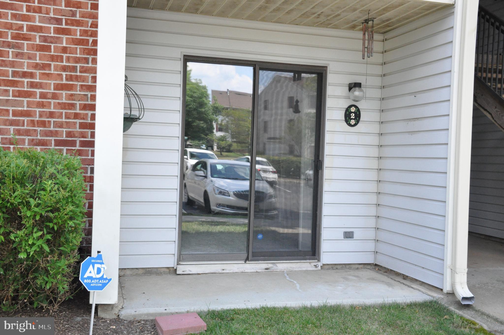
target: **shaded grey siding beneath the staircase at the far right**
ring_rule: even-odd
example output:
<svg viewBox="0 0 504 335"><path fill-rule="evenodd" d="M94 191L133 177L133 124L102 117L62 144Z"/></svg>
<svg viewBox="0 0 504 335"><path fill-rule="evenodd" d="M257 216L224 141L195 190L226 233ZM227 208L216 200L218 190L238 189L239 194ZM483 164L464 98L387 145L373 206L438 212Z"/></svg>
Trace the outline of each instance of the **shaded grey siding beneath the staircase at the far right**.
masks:
<svg viewBox="0 0 504 335"><path fill-rule="evenodd" d="M504 239L504 132L473 109L469 231Z"/></svg>

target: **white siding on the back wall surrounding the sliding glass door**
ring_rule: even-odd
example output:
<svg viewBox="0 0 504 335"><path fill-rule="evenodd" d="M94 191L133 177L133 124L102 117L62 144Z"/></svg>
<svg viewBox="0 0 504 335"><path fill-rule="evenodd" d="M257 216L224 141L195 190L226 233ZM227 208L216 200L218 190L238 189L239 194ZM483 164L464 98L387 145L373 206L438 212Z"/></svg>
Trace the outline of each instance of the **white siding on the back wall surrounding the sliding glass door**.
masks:
<svg viewBox="0 0 504 335"><path fill-rule="evenodd" d="M124 134L120 268L175 264L183 54L328 67L322 260L374 261L382 34L366 66L354 31L133 8L127 27L128 83L146 109ZM354 128L343 121L350 82L367 94Z"/></svg>

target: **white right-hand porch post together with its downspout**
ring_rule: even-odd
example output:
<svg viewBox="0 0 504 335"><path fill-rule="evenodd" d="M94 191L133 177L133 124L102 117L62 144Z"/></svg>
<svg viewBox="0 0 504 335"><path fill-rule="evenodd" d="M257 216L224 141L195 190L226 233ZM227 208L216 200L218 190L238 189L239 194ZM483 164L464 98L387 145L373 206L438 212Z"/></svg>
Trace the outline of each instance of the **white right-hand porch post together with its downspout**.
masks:
<svg viewBox="0 0 504 335"><path fill-rule="evenodd" d="M467 287L467 243L477 12L478 0L455 3L445 291L462 304L474 303Z"/></svg>

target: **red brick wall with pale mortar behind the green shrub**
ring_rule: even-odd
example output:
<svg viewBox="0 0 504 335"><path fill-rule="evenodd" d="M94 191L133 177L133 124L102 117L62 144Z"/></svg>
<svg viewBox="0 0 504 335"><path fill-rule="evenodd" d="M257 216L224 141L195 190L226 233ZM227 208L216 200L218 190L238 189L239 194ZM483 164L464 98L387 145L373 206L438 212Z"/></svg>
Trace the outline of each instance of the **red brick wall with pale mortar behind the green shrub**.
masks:
<svg viewBox="0 0 504 335"><path fill-rule="evenodd" d="M109 0L111 1L111 0ZM90 252L98 0L0 0L0 145L82 158Z"/></svg>

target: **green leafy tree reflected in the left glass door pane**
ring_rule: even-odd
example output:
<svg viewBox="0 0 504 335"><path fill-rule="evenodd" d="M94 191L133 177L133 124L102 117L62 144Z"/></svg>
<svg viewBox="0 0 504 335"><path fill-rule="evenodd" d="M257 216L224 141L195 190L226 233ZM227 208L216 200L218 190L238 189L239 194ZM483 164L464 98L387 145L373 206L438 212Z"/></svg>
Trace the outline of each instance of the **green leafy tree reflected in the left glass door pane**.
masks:
<svg viewBox="0 0 504 335"><path fill-rule="evenodd" d="M214 122L217 121L218 109L215 107L210 104L207 86L203 85L201 79L192 78L191 69L187 69L184 134L189 140L208 144L214 134Z"/></svg>

